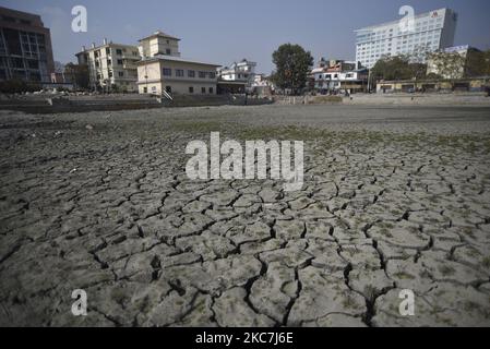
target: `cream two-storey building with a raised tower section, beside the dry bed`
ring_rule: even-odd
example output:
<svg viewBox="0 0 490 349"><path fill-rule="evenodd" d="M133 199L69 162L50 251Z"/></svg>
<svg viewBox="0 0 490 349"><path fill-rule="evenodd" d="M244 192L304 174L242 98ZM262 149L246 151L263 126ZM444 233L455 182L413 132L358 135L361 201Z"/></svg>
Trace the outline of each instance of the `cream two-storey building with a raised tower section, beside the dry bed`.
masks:
<svg viewBox="0 0 490 349"><path fill-rule="evenodd" d="M140 94L200 94L217 93L216 69L219 64L183 59L176 37L156 32L140 40L143 59L138 65Z"/></svg>

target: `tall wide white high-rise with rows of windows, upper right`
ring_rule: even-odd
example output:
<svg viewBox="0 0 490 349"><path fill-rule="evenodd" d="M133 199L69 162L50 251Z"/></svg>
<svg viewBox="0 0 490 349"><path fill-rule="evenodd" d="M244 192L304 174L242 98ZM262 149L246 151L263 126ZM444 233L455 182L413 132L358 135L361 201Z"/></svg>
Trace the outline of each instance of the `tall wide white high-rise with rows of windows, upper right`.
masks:
<svg viewBox="0 0 490 349"><path fill-rule="evenodd" d="M356 61L372 68L382 57L417 56L454 45L457 14L440 9L416 15L413 26L401 20L356 31ZM423 55L418 61L423 62Z"/></svg>

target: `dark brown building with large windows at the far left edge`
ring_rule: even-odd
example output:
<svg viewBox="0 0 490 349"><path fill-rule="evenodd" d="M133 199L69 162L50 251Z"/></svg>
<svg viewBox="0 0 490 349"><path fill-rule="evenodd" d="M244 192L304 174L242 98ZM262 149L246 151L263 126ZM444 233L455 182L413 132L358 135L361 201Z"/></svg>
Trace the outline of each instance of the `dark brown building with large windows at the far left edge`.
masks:
<svg viewBox="0 0 490 349"><path fill-rule="evenodd" d="M0 81L50 82L51 34L39 15L0 8Z"/></svg>

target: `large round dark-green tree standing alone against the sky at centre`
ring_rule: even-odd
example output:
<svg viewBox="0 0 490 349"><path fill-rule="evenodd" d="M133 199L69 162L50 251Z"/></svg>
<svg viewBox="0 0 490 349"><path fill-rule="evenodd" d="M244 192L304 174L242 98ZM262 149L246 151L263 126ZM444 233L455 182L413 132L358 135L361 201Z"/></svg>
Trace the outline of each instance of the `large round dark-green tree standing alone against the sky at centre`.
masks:
<svg viewBox="0 0 490 349"><path fill-rule="evenodd" d="M308 74L313 67L313 57L299 45L285 44L273 53L276 71L274 83L283 89L298 94L306 87Z"/></svg>

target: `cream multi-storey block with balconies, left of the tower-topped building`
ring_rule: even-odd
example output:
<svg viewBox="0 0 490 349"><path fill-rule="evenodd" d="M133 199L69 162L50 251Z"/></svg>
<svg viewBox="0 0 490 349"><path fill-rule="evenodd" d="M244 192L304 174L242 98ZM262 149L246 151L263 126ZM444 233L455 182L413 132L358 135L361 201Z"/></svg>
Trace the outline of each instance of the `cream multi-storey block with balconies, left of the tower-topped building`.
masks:
<svg viewBox="0 0 490 349"><path fill-rule="evenodd" d="M135 63L141 59L138 47L104 39L101 46L83 47L76 58L79 64L88 67L92 89L138 92Z"/></svg>

